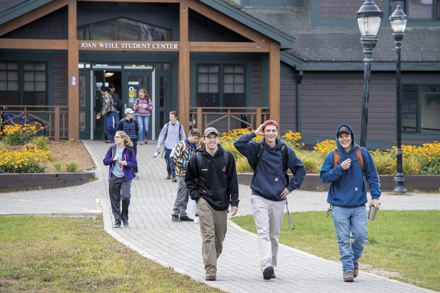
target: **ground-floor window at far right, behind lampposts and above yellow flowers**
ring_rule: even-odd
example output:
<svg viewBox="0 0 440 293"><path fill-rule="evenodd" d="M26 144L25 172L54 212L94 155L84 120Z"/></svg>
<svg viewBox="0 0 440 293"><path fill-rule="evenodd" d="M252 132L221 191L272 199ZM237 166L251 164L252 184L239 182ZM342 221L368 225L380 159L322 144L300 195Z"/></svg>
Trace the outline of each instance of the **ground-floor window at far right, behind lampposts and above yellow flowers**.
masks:
<svg viewBox="0 0 440 293"><path fill-rule="evenodd" d="M402 131L440 131L440 85L402 86Z"/></svg>

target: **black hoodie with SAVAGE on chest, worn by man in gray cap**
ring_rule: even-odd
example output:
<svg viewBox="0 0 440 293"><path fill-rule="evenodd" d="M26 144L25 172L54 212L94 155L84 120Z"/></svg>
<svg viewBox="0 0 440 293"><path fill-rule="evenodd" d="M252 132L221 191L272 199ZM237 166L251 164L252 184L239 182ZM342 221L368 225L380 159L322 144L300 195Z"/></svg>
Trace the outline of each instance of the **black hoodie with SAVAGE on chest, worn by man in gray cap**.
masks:
<svg viewBox="0 0 440 293"><path fill-rule="evenodd" d="M201 166L197 166L197 152L202 155ZM218 145L214 156L206 152L205 147L194 152L185 174L185 184L191 199L197 202L203 198L214 210L227 210L229 204L238 206L237 170L234 156L230 152L228 161L226 167L221 145Z"/></svg>

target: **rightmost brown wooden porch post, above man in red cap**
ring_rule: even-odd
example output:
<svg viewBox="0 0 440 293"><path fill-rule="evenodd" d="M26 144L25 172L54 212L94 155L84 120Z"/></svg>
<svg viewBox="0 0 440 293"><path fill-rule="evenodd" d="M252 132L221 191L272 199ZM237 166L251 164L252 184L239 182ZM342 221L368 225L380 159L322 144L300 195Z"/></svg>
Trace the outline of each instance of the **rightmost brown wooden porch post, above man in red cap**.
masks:
<svg viewBox="0 0 440 293"><path fill-rule="evenodd" d="M279 43L271 43L269 53L269 117L279 121L280 51ZM259 127L260 125L257 125Z"/></svg>

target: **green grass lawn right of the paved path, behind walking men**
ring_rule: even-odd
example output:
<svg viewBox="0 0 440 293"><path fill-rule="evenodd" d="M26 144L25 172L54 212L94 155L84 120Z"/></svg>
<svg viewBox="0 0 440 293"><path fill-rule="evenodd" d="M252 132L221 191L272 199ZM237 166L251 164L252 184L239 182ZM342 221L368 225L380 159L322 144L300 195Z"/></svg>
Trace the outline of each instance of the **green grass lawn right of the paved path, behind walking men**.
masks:
<svg viewBox="0 0 440 293"><path fill-rule="evenodd" d="M339 258L336 233L326 212L290 213L295 230L289 230L284 214L279 242L313 255ZM253 216L232 217L242 228L257 233ZM368 239L359 263L399 272L392 277L440 291L440 211L380 210L368 221ZM360 272L362 273L362 272Z"/></svg>

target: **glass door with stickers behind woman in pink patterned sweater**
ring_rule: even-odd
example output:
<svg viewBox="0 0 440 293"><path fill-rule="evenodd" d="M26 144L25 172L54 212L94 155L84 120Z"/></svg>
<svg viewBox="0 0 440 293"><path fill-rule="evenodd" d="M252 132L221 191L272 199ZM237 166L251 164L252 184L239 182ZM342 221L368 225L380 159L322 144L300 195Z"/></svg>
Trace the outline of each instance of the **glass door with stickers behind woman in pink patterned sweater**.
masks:
<svg viewBox="0 0 440 293"><path fill-rule="evenodd" d="M152 80L152 74L153 72L151 70L139 70L139 71L125 71L124 77L123 77L123 87L122 87L122 101L126 103L124 109L126 108L132 108L137 98L139 98L139 90L141 88L144 88L148 95L150 96L151 101L153 101L153 107L154 105L154 93L152 92L151 87L151 80ZM128 103L127 103L128 101ZM152 125L152 119L155 119L154 115L154 108L153 113L150 115L150 123L148 126L148 140L151 140L151 125ZM136 118L136 116L135 116Z"/></svg>

